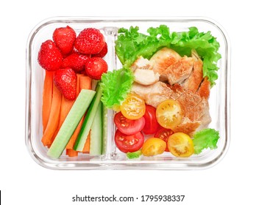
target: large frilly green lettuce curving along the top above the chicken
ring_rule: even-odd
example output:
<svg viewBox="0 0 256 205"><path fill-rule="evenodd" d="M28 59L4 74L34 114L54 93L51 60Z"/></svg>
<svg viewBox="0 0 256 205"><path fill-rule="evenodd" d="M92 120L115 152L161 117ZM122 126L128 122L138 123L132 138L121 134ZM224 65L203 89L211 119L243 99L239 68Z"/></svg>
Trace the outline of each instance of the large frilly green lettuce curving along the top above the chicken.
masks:
<svg viewBox="0 0 256 205"><path fill-rule="evenodd" d="M196 27L191 27L188 31L170 32L168 26L161 25L149 28L147 32L149 34L140 33L138 26L118 30L115 51L124 67L130 67L138 56L150 59L163 47L172 48L181 56L191 56L191 50L195 49L204 62L204 77L208 77L211 86L215 85L221 54L218 53L220 45L210 31L199 32Z"/></svg>

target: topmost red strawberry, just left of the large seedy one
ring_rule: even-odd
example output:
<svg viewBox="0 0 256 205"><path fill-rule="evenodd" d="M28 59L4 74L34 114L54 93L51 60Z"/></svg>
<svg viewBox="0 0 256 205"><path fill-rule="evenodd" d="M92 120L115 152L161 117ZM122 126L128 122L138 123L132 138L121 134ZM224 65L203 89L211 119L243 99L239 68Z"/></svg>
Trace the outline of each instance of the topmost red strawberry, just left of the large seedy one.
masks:
<svg viewBox="0 0 256 205"><path fill-rule="evenodd" d="M69 26L55 29L52 35L57 48L60 49L63 55L67 55L73 51L76 37L76 32Z"/></svg>

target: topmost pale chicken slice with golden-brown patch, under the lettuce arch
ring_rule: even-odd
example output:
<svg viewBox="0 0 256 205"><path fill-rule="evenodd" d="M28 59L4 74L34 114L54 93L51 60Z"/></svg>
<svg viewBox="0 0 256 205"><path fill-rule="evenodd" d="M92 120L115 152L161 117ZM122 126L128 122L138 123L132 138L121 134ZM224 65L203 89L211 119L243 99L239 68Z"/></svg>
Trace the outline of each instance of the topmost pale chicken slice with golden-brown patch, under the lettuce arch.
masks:
<svg viewBox="0 0 256 205"><path fill-rule="evenodd" d="M167 76L163 74L166 69L181 59L179 53L171 48L162 48L149 59L152 64L154 72L158 72L163 80L167 80Z"/></svg>

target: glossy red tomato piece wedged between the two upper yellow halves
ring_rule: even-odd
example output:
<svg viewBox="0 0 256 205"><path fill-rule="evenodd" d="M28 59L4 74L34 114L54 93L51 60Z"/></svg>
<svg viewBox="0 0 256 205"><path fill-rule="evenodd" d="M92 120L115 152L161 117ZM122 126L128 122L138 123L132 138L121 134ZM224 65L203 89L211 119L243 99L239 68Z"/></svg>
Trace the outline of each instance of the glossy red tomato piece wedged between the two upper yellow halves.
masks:
<svg viewBox="0 0 256 205"><path fill-rule="evenodd" d="M156 108L152 107L151 105L146 105L146 111L143 117L145 118L145 126L142 130L143 133L146 135L152 135L157 132L160 124L157 122Z"/></svg>

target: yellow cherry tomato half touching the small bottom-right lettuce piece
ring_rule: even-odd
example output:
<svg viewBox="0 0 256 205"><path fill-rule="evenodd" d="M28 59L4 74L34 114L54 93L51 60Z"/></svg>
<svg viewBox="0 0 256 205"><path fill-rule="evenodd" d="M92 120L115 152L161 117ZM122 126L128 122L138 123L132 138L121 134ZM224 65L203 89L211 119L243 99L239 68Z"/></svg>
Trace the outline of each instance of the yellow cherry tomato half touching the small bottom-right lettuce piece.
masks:
<svg viewBox="0 0 256 205"><path fill-rule="evenodd" d="M174 133L168 138L168 149L176 157L190 157L193 154L193 141L185 133Z"/></svg>

